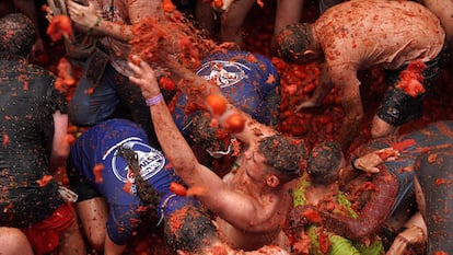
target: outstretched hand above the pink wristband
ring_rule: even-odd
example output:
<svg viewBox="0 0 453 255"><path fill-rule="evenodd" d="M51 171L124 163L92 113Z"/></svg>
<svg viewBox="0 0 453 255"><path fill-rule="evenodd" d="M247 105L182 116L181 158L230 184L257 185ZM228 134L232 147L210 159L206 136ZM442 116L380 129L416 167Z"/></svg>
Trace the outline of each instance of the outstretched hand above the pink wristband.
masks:
<svg viewBox="0 0 453 255"><path fill-rule="evenodd" d="M128 66L133 71L133 76L129 77L129 80L139 85L141 94L144 98L155 97L161 93L158 79L155 78L154 70L146 61L141 60L137 56L132 56L132 61L128 62Z"/></svg>

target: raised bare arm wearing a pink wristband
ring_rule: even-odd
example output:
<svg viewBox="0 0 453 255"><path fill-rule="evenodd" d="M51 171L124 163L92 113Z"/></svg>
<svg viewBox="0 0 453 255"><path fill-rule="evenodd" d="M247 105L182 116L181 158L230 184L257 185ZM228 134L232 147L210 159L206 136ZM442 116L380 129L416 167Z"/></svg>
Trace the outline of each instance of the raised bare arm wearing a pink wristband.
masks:
<svg viewBox="0 0 453 255"><path fill-rule="evenodd" d="M129 79L140 85L144 98L148 98L159 142L175 173L189 186L188 194L196 196L210 210L236 228L254 227L258 229L257 231L259 228L265 228L253 224L256 222L255 216L262 208L252 197L233 192L217 174L197 161L174 124L165 102L160 100L159 84L149 65L141 61L139 66L133 63L129 66L136 73L136 77Z"/></svg>

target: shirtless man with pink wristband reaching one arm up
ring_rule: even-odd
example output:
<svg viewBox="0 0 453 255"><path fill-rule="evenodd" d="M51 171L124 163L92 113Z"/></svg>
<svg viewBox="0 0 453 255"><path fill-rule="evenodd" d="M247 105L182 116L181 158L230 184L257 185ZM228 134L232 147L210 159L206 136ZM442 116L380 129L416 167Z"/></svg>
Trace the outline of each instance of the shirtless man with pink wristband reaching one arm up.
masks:
<svg viewBox="0 0 453 255"><path fill-rule="evenodd" d="M188 192L191 189L217 216L220 236L233 248L244 251L269 244L289 248L281 227L291 207L291 181L300 174L305 151L303 142L278 135L228 103L226 111L219 114L217 119L224 127L228 127L232 114L239 114L245 120L244 129L236 130L234 136L246 146L246 150L242 151L237 160L237 171L225 183L197 161L162 100L153 70L144 61L135 60L139 63L129 63L136 73L129 79L141 88L143 96L148 98L165 157L172 162L175 173L188 185ZM172 59L169 59L167 65L173 66L172 70L185 79L177 84L191 102L202 103L209 93L220 93L218 86L181 65L176 68L177 63L172 62Z"/></svg>

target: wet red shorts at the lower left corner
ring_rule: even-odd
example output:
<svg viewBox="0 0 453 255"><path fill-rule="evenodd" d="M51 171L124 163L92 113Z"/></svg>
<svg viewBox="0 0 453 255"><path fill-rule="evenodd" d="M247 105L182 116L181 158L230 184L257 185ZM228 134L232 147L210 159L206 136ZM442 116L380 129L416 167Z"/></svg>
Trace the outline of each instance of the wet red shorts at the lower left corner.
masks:
<svg viewBox="0 0 453 255"><path fill-rule="evenodd" d="M60 234L76 221L76 213L69 204L59 207L54 213L30 228L23 229L32 247L37 255L54 251L58 244Z"/></svg>

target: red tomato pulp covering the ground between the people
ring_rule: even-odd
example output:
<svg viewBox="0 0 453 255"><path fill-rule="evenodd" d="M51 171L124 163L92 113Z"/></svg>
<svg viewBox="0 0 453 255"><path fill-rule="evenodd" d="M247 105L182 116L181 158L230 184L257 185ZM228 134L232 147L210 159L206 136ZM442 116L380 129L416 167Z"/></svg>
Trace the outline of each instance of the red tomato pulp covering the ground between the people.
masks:
<svg viewBox="0 0 453 255"><path fill-rule="evenodd" d="M272 1L274 2L274 1ZM336 139L344 118L344 111L335 89L327 95L320 107L295 113L294 108L306 100L318 82L320 69L316 65L288 65L281 59L269 55L270 38L274 30L275 3L265 1L252 10L244 25L245 49L271 58L278 69L281 84L280 123L278 129L290 136L304 138L311 146L326 139ZM303 21L312 22L317 16L317 2L306 2ZM54 45L54 47L61 47ZM56 59L50 59L50 61ZM420 128L428 123L453 119L453 80L452 65L441 71L437 85L429 94L425 104L422 118L400 127L400 132ZM362 102L365 108L365 119L362 130L350 150L370 139L370 120L383 96L386 85L383 83L379 69L359 73L362 81ZM91 252L96 254L95 252ZM147 222L138 231L128 245L127 254L156 255L169 254L162 237L162 229L155 222Z"/></svg>

